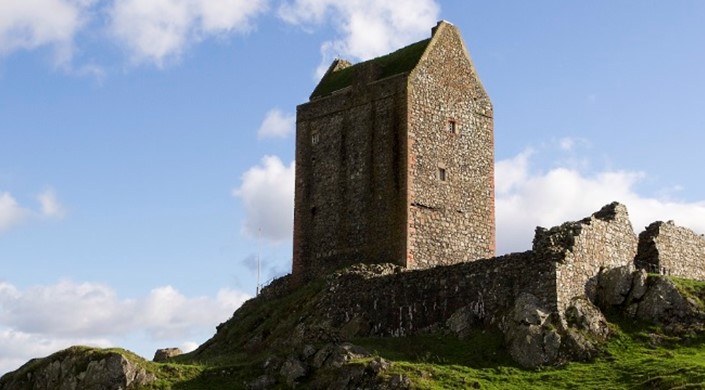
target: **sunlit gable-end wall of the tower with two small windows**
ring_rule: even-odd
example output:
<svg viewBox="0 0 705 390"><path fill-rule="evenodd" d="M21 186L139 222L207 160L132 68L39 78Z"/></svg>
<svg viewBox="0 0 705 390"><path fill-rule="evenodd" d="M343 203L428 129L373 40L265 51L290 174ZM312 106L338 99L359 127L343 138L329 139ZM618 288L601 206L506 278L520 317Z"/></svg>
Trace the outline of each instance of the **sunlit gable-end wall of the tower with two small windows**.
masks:
<svg viewBox="0 0 705 390"><path fill-rule="evenodd" d="M409 75L411 268L495 255L492 105L458 30L434 34Z"/></svg>

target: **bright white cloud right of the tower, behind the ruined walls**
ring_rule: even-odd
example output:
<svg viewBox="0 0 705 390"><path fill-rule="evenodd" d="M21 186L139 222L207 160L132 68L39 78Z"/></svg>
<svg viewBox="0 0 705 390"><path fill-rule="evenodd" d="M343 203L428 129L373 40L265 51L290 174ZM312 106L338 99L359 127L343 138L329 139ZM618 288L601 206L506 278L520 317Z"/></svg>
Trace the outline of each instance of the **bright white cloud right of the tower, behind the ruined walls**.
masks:
<svg viewBox="0 0 705 390"><path fill-rule="evenodd" d="M576 220L612 201L627 206L636 233L657 220L675 220L705 232L705 201L677 202L638 194L635 186L646 177L642 172L587 174L565 167L534 172L534 153L527 149L496 164L498 253L529 249L536 226Z"/></svg>

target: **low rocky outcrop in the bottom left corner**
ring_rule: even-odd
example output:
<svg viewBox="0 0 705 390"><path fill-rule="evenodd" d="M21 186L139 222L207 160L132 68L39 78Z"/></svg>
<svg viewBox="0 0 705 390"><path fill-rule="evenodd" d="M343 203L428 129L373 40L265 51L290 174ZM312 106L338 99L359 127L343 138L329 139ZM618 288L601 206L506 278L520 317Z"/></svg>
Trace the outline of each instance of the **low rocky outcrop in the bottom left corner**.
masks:
<svg viewBox="0 0 705 390"><path fill-rule="evenodd" d="M135 357L87 347L71 347L34 359L0 378L0 390L127 390L154 382Z"/></svg>

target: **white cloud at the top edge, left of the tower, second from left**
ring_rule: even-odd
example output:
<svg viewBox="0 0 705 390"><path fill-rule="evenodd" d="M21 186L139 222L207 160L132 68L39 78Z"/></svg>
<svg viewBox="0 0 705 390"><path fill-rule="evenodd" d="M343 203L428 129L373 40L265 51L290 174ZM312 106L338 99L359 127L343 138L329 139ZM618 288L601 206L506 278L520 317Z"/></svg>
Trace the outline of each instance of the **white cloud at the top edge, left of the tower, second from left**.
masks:
<svg viewBox="0 0 705 390"><path fill-rule="evenodd" d="M110 30L135 62L158 66L207 36L246 32L266 0L115 0Z"/></svg>

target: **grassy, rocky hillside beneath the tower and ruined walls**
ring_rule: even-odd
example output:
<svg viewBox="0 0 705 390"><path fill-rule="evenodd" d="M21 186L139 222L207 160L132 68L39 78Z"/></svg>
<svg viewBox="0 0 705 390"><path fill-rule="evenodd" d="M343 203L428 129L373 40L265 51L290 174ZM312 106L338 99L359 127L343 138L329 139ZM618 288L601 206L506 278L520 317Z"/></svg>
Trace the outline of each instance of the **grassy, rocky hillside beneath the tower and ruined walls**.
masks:
<svg viewBox="0 0 705 390"><path fill-rule="evenodd" d="M654 286L658 280L668 278L650 275L648 283ZM439 331L328 340L328 330L321 326L320 342L297 339L296 328L304 318L320 319L317 310L330 283L318 281L291 294L274 294L272 289L285 282L276 281L221 324L198 350L169 363L148 362L124 350L74 347L5 375L0 389L241 389L294 384L302 388L705 388L701 323L654 325L614 311L608 313L611 335L592 362L523 369L513 362L502 333L491 327L472 329L463 337ZM677 278L673 282L702 314L705 283ZM128 375L120 378L109 369L111 365L126 368Z"/></svg>

